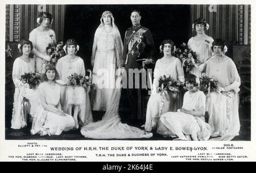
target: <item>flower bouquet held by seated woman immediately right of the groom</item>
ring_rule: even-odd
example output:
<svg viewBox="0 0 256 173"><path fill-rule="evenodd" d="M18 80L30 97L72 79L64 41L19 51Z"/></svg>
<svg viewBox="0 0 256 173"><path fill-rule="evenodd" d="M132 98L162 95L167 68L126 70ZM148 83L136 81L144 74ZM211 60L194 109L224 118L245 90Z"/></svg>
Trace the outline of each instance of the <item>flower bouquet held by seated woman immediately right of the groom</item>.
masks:
<svg viewBox="0 0 256 173"><path fill-rule="evenodd" d="M167 92L174 92L175 94L180 92L181 89L183 89L184 83L180 81L175 81L171 75L166 77L166 75L163 75L159 78L159 87L158 91L160 93L163 93L164 91Z"/></svg>

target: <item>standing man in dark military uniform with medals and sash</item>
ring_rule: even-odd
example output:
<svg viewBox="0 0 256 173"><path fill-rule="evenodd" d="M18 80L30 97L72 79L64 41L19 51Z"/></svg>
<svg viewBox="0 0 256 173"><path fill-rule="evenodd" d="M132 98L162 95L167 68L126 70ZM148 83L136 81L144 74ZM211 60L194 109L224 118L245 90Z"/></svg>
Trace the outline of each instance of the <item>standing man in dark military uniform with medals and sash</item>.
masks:
<svg viewBox="0 0 256 173"><path fill-rule="evenodd" d="M135 79L135 76L138 75L137 72L142 67L154 63L154 41L150 30L142 27L140 21L140 12L137 10L131 12L131 23L133 23L133 27L127 29L125 32L122 55L122 68L125 69L123 70L123 75L127 74L127 95L131 108L130 119L133 122L138 119L141 121L144 120L143 109L145 106L143 105L143 101L144 96L146 96L146 90L141 90L142 74L139 74L139 81ZM134 69L137 69L137 72ZM139 87L138 82L140 83Z"/></svg>

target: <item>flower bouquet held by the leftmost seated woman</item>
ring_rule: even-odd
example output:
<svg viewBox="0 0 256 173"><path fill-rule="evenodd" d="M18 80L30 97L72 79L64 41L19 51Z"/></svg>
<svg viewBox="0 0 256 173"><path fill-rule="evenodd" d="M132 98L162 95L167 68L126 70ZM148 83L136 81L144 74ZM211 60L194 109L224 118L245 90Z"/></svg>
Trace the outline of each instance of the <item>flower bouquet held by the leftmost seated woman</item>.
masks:
<svg viewBox="0 0 256 173"><path fill-rule="evenodd" d="M30 89L35 89L42 81L40 73L25 73L20 76L20 81L23 83L28 83Z"/></svg>

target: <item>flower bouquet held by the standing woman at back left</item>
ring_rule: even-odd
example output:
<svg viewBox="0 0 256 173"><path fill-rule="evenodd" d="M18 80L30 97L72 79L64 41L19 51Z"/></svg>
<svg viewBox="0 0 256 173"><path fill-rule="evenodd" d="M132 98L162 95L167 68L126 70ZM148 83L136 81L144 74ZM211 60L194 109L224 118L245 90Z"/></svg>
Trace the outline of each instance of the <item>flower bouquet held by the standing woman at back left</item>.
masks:
<svg viewBox="0 0 256 173"><path fill-rule="evenodd" d="M65 51L63 50L64 43L63 41L58 41L57 44L50 43L46 48L47 54L51 57L51 62L56 63L59 58L65 56Z"/></svg>

